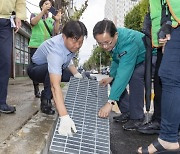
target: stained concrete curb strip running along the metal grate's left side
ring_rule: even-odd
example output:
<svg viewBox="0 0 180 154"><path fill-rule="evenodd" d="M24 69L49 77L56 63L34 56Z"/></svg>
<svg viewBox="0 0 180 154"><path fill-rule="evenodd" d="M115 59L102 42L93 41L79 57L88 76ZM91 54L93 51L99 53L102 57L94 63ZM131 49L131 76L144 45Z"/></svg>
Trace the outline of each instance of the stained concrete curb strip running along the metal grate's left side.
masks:
<svg viewBox="0 0 180 154"><path fill-rule="evenodd" d="M41 154L52 134L57 114L47 116L38 112L20 130L13 133L0 153Z"/></svg>

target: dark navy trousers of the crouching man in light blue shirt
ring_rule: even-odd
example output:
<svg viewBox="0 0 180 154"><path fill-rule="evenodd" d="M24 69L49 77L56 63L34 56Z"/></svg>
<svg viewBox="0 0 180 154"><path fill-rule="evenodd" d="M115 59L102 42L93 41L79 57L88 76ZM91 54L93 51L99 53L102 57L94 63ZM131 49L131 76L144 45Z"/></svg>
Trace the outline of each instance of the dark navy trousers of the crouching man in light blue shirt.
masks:
<svg viewBox="0 0 180 154"><path fill-rule="evenodd" d="M51 92L50 78L48 72L48 64L43 64L43 65L30 64L27 69L27 73L33 81L43 83L44 90L43 93L41 94L41 98L51 99L52 92ZM71 76L73 76L73 74L69 71L69 69L64 69L62 71L61 81L68 82Z"/></svg>

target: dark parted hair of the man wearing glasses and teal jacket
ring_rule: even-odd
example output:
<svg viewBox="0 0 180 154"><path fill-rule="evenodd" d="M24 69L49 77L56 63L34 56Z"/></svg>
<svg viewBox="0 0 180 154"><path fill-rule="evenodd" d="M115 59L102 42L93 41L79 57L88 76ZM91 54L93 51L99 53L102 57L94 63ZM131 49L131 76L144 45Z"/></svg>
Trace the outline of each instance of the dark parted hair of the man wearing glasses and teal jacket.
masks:
<svg viewBox="0 0 180 154"><path fill-rule="evenodd" d="M99 21L93 28L94 38L97 34L103 34L103 33L109 33L111 37L114 37L116 32L117 32L117 28L115 24L108 19Z"/></svg>

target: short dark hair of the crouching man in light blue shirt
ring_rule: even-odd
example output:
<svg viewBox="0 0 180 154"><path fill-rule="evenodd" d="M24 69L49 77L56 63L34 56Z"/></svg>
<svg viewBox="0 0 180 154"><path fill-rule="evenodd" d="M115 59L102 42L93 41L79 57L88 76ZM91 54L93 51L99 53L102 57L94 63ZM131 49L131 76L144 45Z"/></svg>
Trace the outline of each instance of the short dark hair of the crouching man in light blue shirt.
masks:
<svg viewBox="0 0 180 154"><path fill-rule="evenodd" d="M68 38L76 38L87 36L86 26L81 21L70 20L63 27L62 33Z"/></svg>

